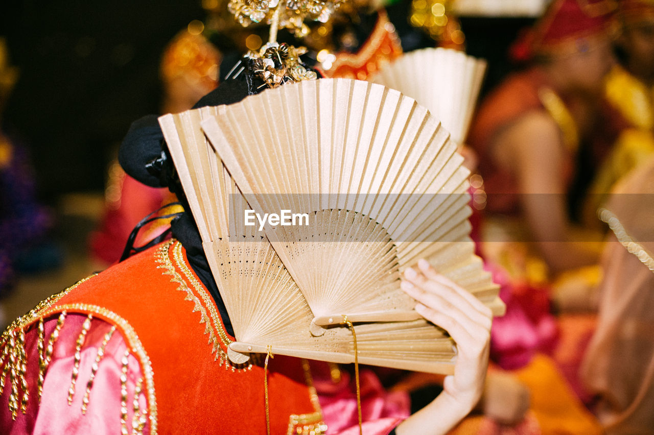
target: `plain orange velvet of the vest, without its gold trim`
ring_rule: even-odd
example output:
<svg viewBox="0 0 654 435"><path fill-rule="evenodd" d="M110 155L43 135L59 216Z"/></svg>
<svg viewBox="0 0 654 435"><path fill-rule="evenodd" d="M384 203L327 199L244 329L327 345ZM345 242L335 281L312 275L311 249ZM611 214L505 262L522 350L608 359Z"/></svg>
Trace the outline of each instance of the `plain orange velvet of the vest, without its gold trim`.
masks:
<svg viewBox="0 0 654 435"><path fill-rule="evenodd" d="M166 255L182 283L175 282L175 275L157 261L158 250L167 246L164 244L78 285L56 306L95 304L129 321L152 364L160 433L182 428L190 434L206 433L209 428L221 434L266 433L264 368L253 365L251 370L232 370L211 353L205 328L213 323L200 323L201 311L196 308L209 312L215 304L198 278L192 273L186 276L182 270L181 266L188 265L185 251L183 262L173 259L178 243L174 242ZM192 280L200 287L194 287ZM196 302L188 297L184 285L192 289L201 307L194 308ZM203 300L202 291L209 298ZM222 328L222 323L216 326ZM222 343L220 346L226 350ZM299 359L277 356L270 360L268 373L271 433L283 434L290 415L316 410Z"/></svg>

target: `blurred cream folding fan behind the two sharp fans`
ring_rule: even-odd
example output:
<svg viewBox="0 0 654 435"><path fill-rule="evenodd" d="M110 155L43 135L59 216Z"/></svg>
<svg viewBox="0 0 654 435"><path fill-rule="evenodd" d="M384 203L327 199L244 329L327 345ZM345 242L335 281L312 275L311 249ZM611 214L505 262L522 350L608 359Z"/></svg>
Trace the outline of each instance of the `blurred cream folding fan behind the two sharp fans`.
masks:
<svg viewBox="0 0 654 435"><path fill-rule="evenodd" d="M432 112L457 144L468 133L486 62L450 48L424 48L388 63L368 80L397 89Z"/></svg>

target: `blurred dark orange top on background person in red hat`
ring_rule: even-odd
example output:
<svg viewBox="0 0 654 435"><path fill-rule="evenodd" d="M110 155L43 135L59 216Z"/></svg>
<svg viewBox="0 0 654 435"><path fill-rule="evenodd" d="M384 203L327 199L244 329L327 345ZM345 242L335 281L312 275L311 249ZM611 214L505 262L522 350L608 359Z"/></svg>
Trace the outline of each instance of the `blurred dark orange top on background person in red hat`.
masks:
<svg viewBox="0 0 654 435"><path fill-rule="evenodd" d="M540 89L548 88L547 80L537 68L511 74L479 106L468 135L468 143L479 155L479 173L483 177L489 212L517 214L519 186L513 174L500 169L492 157L496 135L532 111L545 111L539 97ZM572 157L563 174L572 179Z"/></svg>

